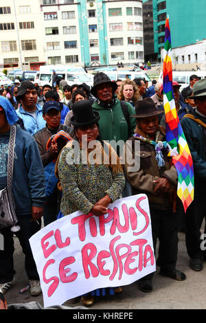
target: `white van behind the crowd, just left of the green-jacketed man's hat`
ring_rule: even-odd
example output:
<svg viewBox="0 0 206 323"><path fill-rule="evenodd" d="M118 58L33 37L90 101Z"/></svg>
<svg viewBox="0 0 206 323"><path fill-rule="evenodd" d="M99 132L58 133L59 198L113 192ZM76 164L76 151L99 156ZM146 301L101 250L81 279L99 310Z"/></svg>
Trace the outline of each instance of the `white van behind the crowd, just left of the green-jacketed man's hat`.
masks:
<svg viewBox="0 0 206 323"><path fill-rule="evenodd" d="M83 82L91 87L93 82L83 67L58 67L54 66L41 66L40 70L36 73L35 81L38 81L38 85L52 85L53 70L63 80L67 81L68 85L82 84Z"/></svg>

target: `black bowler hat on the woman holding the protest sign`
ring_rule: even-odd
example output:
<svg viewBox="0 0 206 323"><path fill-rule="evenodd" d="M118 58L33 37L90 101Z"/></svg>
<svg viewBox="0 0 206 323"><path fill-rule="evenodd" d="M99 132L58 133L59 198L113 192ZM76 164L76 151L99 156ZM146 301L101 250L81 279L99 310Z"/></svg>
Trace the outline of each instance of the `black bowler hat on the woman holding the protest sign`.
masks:
<svg viewBox="0 0 206 323"><path fill-rule="evenodd" d="M73 117L71 124L74 127L91 126L100 120L98 112L93 111L89 100L81 100L72 104Z"/></svg>

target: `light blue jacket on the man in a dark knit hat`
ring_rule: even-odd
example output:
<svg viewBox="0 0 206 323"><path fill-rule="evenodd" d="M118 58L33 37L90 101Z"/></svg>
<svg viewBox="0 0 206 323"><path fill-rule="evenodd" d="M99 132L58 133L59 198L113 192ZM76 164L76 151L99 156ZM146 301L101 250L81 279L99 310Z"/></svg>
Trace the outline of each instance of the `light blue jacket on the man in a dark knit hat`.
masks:
<svg viewBox="0 0 206 323"><path fill-rule="evenodd" d="M34 135L36 131L43 129L45 127L45 120L43 120L43 112L40 104L36 103L36 119L25 111L22 106L16 110L17 115L23 120L25 130L28 131L31 135Z"/></svg>

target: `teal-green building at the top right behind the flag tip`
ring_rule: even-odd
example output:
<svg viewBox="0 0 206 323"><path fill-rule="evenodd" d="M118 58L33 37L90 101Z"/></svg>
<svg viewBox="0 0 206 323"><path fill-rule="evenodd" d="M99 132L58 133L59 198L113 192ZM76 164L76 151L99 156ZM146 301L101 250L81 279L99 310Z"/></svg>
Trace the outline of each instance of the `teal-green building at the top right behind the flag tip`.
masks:
<svg viewBox="0 0 206 323"><path fill-rule="evenodd" d="M151 0L143 0L143 10ZM205 38L205 1L199 0L152 0L154 47L150 51L161 61L164 47L165 19L169 16L172 48L195 44ZM144 23L144 30L147 23ZM145 46L146 40L145 40ZM189 56L190 58L190 56Z"/></svg>

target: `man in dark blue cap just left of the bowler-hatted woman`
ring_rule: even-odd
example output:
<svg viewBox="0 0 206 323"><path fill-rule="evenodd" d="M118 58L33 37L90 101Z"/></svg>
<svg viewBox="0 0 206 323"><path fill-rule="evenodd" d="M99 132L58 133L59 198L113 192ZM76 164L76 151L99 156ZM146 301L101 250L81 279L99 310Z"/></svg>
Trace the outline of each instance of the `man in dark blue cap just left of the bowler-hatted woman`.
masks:
<svg viewBox="0 0 206 323"><path fill-rule="evenodd" d="M49 93L49 92L48 92ZM69 133L71 137L75 137L73 129L69 126L60 124L62 106L58 102L52 100L47 101L43 105L43 119L46 122L46 126L37 131L34 134L34 139L38 144L38 150L41 155L43 166L46 167L56 157L58 152L57 144L51 144L47 150L47 142L52 135L55 135L59 131L65 131ZM54 189L54 192L46 197L44 205L44 223L45 225L56 220L58 211L58 188Z"/></svg>

